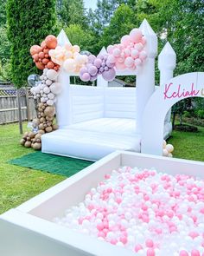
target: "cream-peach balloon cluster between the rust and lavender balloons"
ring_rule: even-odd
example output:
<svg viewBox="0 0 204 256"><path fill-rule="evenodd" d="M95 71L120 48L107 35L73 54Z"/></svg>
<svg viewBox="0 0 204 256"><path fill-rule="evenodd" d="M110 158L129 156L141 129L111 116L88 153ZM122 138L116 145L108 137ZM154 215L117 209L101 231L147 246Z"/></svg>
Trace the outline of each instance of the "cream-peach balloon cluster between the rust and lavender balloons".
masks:
<svg viewBox="0 0 204 256"><path fill-rule="evenodd" d="M87 56L80 55L80 47L71 43L67 43L65 47L50 49L49 55L54 63L63 66L67 72L79 73L87 62Z"/></svg>

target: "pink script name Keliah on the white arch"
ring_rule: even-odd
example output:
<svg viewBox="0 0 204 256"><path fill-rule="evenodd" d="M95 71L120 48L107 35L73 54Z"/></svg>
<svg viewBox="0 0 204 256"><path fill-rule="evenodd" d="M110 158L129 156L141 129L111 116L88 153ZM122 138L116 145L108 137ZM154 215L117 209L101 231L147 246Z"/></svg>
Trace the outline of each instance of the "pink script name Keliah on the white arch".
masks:
<svg viewBox="0 0 204 256"><path fill-rule="evenodd" d="M172 99L172 98L187 98L187 97L194 97L197 95L204 96L204 88L203 89L194 89L194 82L191 84L191 89L182 89L182 85L179 84L178 87L176 87L173 84L173 82L170 82L169 85L166 84L164 87L164 100Z"/></svg>

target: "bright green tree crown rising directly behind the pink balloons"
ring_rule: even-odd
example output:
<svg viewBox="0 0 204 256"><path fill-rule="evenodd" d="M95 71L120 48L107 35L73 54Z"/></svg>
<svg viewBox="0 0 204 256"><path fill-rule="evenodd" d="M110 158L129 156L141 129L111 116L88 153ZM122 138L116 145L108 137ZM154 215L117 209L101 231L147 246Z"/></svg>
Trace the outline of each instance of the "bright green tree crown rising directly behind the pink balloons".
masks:
<svg viewBox="0 0 204 256"><path fill-rule="evenodd" d="M119 43L121 37L129 34L135 27L137 27L137 21L133 10L128 5L121 4L103 32L101 47Z"/></svg>

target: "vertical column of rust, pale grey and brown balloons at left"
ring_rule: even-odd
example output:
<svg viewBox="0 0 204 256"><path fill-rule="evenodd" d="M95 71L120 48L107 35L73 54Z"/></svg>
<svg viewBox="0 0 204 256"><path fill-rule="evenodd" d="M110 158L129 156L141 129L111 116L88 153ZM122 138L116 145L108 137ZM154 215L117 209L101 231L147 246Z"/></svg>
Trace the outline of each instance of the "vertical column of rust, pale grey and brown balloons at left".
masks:
<svg viewBox="0 0 204 256"><path fill-rule="evenodd" d="M30 89L37 102L37 118L32 122L32 131L26 132L20 143L26 148L41 149L41 135L57 129L54 124L56 95L61 93L57 82L60 65L51 60L49 51L57 47L57 38L49 35L41 43L30 48L30 54L38 69L43 69L40 81L32 82ZM36 76L36 75L34 75ZM34 84L33 84L34 83ZM35 86L34 86L35 85Z"/></svg>

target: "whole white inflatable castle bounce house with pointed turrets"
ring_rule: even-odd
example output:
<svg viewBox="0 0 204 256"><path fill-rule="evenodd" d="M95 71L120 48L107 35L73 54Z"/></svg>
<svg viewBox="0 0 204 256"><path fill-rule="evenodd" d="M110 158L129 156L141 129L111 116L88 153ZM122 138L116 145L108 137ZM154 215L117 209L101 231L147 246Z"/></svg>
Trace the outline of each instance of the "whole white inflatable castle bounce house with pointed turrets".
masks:
<svg viewBox="0 0 204 256"><path fill-rule="evenodd" d="M117 149L141 152L143 111L156 90L157 37L146 20L140 30L147 41L146 61L137 72L128 69L116 71L117 75L137 75L136 88L109 88L101 75L97 87L71 85L70 75L78 74L60 71L62 92L56 103L59 129L42 136L43 153L97 161ZM62 30L58 43L63 46L67 42ZM102 51L104 53L105 49ZM159 55L161 84L173 77L175 59L175 52L167 43ZM150 120L156 122L154 115ZM168 138L171 131L169 111L164 120L163 138Z"/></svg>

